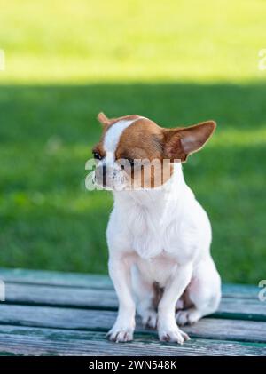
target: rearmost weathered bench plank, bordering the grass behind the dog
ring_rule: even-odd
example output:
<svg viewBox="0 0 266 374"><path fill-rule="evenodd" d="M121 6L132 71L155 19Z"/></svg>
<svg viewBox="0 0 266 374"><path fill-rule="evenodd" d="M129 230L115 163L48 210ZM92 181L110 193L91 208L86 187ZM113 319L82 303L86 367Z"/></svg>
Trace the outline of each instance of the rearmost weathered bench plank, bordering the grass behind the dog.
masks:
<svg viewBox="0 0 266 374"><path fill-rule="evenodd" d="M87 275L45 270L7 269L0 267L0 279L5 282L47 284L79 288L113 290L113 284L107 275ZM223 284L223 295L231 298L257 298L259 288L248 284Z"/></svg>

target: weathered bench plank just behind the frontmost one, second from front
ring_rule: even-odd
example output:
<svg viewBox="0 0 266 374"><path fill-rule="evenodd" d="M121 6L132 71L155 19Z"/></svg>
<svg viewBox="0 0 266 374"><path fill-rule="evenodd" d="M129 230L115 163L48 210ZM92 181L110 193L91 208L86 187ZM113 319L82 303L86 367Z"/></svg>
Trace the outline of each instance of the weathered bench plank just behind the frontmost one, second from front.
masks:
<svg viewBox="0 0 266 374"><path fill-rule="evenodd" d="M0 305L1 324L60 328L68 330L109 330L115 321L116 312L84 310L51 306ZM205 318L184 330L198 338L266 342L266 322L234 321ZM145 330L137 321L137 331Z"/></svg>

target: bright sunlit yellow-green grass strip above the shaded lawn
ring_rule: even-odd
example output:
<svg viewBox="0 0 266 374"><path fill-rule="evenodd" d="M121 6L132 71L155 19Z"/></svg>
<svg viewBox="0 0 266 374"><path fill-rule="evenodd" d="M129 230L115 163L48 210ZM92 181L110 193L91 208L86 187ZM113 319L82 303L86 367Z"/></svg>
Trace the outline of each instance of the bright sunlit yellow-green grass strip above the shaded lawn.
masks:
<svg viewBox="0 0 266 374"><path fill-rule="evenodd" d="M14 0L1 6L0 82L264 79L262 0Z"/></svg>

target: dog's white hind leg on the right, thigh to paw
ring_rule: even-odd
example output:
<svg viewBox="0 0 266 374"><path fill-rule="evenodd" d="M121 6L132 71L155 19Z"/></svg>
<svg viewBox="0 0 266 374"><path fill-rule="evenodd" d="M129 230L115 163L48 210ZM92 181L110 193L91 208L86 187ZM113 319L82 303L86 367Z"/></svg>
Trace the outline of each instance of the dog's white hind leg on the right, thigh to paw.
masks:
<svg viewBox="0 0 266 374"><path fill-rule="evenodd" d="M201 317L215 312L221 299L221 279L211 258L201 260L185 290L190 306L176 313L176 322L182 326L198 322Z"/></svg>

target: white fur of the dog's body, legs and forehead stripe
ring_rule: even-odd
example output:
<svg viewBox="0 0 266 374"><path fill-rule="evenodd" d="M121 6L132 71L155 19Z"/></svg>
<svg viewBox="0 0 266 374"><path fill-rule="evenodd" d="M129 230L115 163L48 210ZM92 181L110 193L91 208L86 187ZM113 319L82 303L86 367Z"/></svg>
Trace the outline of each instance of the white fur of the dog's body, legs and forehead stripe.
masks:
<svg viewBox="0 0 266 374"><path fill-rule="evenodd" d="M108 149L118 144L127 126L129 123L121 123L109 132ZM213 313L221 298L220 276L209 252L211 227L207 214L185 184L181 163L175 164L173 176L162 188L113 194L107 243L109 273L120 307L109 338L133 338L137 304L143 322L152 327L157 324L161 340L182 344L188 336L176 321L197 322ZM164 289L158 313L152 302L154 282ZM184 290L193 306L175 314Z"/></svg>

